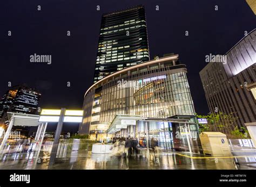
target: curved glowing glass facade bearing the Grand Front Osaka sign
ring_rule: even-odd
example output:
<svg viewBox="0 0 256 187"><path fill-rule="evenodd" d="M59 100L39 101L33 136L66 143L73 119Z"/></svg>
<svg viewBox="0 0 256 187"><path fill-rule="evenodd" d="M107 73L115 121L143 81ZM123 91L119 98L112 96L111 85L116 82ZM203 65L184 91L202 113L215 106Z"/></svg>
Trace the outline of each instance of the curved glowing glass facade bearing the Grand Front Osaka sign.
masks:
<svg viewBox="0 0 256 187"><path fill-rule="evenodd" d="M186 73L185 64L178 64L178 55L173 55L105 77L85 94L79 133L104 134L116 114L152 118L194 115Z"/></svg>

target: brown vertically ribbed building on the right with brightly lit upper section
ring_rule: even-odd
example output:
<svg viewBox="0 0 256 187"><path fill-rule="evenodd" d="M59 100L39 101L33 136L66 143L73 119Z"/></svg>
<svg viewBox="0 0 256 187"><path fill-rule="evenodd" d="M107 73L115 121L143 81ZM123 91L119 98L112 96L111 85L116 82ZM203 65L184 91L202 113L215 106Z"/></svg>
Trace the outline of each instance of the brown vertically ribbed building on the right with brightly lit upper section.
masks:
<svg viewBox="0 0 256 187"><path fill-rule="evenodd" d="M238 125L245 126L256 121L255 98L247 88L256 82L256 29L224 57L225 63L210 62L200 71L208 107L211 112L234 112Z"/></svg>

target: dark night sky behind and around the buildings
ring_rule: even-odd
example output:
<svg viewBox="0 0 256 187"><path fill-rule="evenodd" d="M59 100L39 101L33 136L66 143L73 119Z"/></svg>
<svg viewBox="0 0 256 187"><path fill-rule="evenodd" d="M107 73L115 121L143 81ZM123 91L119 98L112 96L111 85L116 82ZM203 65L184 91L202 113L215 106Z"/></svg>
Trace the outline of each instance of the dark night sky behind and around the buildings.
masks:
<svg viewBox="0 0 256 187"><path fill-rule="evenodd" d="M0 97L8 90L8 82L26 83L42 92L42 108L80 109L93 82L102 13L138 4L145 5L150 58L179 54L187 65L196 112L206 114L199 71L206 66L205 55L225 54L245 31L255 28L256 16L245 0L2 1ZM52 63L31 63L34 53L52 55Z"/></svg>

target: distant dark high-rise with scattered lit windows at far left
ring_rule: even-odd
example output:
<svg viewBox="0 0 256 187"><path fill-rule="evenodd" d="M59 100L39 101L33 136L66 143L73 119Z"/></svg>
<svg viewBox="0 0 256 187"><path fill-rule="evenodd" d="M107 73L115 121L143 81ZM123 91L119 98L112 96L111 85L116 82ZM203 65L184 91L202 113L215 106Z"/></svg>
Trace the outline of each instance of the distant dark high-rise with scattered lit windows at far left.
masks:
<svg viewBox="0 0 256 187"><path fill-rule="evenodd" d="M9 89L0 101L0 120L6 118L6 112L35 114L41 93L23 85Z"/></svg>

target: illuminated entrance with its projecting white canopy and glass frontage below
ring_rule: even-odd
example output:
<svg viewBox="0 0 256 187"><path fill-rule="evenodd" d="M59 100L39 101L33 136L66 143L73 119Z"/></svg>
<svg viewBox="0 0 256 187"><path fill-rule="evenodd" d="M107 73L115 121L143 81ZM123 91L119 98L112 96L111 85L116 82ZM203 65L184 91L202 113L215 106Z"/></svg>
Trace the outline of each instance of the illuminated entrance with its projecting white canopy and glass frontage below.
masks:
<svg viewBox="0 0 256 187"><path fill-rule="evenodd" d="M117 114L107 134L116 138L137 138L141 147L151 147L152 142L166 150L199 153L199 134L193 116L174 118L145 118Z"/></svg>

